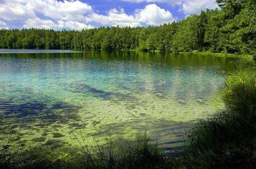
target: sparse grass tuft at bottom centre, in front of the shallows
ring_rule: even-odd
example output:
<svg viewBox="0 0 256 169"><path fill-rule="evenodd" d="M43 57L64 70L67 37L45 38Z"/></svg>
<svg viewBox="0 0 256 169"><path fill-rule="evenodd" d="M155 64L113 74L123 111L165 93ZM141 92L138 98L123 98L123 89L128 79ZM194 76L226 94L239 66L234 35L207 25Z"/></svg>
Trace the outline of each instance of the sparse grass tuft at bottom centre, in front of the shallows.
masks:
<svg viewBox="0 0 256 169"><path fill-rule="evenodd" d="M80 142L82 159L77 163L79 169L160 169L169 168L169 159L158 146L150 142L152 134L147 131L137 137L134 146L131 141L121 145L112 140L111 135L105 145L99 145L94 138L93 144ZM75 136L76 137L76 136Z"/></svg>

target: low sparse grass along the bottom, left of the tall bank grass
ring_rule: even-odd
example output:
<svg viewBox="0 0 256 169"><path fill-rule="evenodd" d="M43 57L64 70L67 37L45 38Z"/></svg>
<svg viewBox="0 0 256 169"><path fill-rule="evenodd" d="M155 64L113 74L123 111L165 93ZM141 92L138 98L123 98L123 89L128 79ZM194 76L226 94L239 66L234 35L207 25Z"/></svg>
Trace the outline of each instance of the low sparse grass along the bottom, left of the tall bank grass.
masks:
<svg viewBox="0 0 256 169"><path fill-rule="evenodd" d="M71 131L72 133L72 131ZM106 144L100 145L93 136L93 142L85 139L74 138L80 144L76 155L59 153L57 156L48 156L47 146L50 141L42 146L36 153L31 153L25 145L11 146L10 139L0 147L0 168L1 169L150 169L165 168L170 165L168 157L159 147L158 143L152 144L147 131L137 137L136 143L126 142L124 145L115 142L111 138ZM10 134L11 137L12 134Z"/></svg>

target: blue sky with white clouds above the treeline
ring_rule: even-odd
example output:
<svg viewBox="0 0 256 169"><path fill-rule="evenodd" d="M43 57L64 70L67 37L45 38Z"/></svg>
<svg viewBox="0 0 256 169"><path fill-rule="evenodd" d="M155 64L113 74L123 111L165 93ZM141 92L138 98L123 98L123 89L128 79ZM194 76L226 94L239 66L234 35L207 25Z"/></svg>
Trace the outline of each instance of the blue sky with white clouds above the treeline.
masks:
<svg viewBox="0 0 256 169"><path fill-rule="evenodd" d="M217 7L216 0L0 0L0 28L161 25Z"/></svg>

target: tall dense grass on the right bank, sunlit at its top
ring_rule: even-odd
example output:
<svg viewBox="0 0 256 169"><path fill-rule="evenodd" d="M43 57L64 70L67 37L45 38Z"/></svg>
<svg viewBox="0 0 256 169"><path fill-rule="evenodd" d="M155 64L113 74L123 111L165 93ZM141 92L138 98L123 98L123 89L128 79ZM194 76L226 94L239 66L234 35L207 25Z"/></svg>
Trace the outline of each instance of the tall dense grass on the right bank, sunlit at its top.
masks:
<svg viewBox="0 0 256 169"><path fill-rule="evenodd" d="M183 162L188 168L256 168L256 71L227 78L227 108L187 131Z"/></svg>

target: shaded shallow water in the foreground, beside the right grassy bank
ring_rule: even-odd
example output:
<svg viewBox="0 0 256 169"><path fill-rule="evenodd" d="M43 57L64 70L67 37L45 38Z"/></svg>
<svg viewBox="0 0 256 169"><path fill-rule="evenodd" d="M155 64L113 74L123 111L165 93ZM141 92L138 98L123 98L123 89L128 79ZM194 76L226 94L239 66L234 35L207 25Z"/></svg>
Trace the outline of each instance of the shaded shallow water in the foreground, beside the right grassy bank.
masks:
<svg viewBox="0 0 256 169"><path fill-rule="evenodd" d="M143 115L144 116L144 115ZM147 117L145 117L147 118ZM153 144L158 140L160 146L163 147L165 151L180 150L182 148L184 132L187 129L194 126L194 122L175 122L168 121L165 119L160 119L158 121L148 121L147 124L141 123L140 120L133 120L127 122L116 122L110 124L103 124L101 128L95 131L94 136L99 138L108 138L108 133L115 138L116 141L125 143L130 140L130 136L133 136L131 143L134 145L136 142L136 137L140 138L141 134L148 131L148 134L152 134L150 142ZM128 128L137 131L136 133L131 133ZM103 141L103 140L100 140Z"/></svg>

